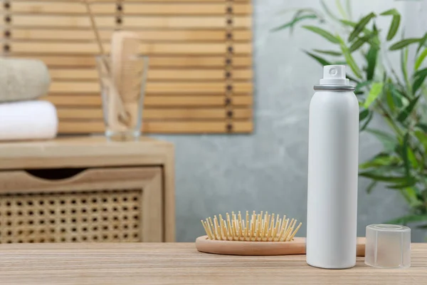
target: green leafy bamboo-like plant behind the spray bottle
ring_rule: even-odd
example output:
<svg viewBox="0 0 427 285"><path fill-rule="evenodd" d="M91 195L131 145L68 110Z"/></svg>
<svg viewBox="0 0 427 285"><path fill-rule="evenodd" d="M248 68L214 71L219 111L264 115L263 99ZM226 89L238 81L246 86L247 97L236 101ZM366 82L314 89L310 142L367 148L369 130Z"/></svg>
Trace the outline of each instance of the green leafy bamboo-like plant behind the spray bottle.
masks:
<svg viewBox="0 0 427 285"><path fill-rule="evenodd" d="M317 34L335 48L304 52L322 66L346 64L349 67L351 75L347 78L356 85L359 98L360 132L370 133L382 142L382 150L359 165L359 176L371 180L367 192L384 182L387 188L401 193L410 209L404 217L388 222L421 222L418 227L427 228L427 89L424 84L427 68L422 67L427 56L427 33L421 38L399 38L401 15L396 9L381 14L371 12L359 21L351 21L348 1L347 9L339 1L337 5L340 15L333 14L322 1L322 10L299 9L288 23L274 30L292 31L305 21L316 21L316 25L300 28ZM387 29L376 26L379 17L390 19ZM338 27L339 31L330 31L327 24ZM382 33L386 33L385 40L381 40ZM413 58L408 58L409 48L415 50ZM400 52L398 67L389 61L391 51ZM355 54L359 54L362 61L355 61ZM408 70L408 61L414 63L411 70ZM384 120L384 130L371 128L374 115Z"/></svg>

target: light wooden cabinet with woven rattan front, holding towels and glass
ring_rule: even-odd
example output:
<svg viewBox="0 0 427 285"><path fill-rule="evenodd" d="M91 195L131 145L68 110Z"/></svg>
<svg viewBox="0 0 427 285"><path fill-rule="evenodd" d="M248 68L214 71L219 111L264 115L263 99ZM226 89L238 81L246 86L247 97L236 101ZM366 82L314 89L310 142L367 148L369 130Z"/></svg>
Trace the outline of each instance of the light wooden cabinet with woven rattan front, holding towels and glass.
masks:
<svg viewBox="0 0 427 285"><path fill-rule="evenodd" d="M174 148L142 138L0 144L0 242L174 242Z"/></svg>

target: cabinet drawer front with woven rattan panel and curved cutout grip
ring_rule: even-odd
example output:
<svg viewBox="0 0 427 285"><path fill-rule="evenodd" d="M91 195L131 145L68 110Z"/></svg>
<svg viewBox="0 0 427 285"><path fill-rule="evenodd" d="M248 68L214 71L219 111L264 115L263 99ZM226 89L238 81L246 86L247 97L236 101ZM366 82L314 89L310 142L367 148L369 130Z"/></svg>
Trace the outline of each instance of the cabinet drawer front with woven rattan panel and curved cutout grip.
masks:
<svg viewBox="0 0 427 285"><path fill-rule="evenodd" d="M161 167L50 171L0 172L1 243L162 242Z"/></svg>

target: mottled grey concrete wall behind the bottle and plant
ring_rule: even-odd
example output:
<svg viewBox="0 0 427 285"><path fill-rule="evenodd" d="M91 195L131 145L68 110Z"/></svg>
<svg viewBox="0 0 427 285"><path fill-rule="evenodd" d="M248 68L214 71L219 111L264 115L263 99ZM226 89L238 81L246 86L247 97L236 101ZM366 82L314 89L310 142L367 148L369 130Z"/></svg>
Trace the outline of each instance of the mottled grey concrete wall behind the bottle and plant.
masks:
<svg viewBox="0 0 427 285"><path fill-rule="evenodd" d="M326 1L334 5L334 1ZM322 76L322 67L305 56L301 48L327 48L319 36L297 28L270 29L290 19L280 10L315 6L314 0L255 0L253 2L255 71L255 131L251 135L159 135L176 145L176 239L192 242L204 234L200 220L231 211L264 210L305 223L307 198L307 125L312 86ZM426 25L416 20L425 14L421 1L353 1L354 17L369 11L396 7L408 15L403 23L422 32ZM420 19L421 21L421 19ZM379 24L387 24L384 20ZM424 24L424 23L423 23ZM394 58L394 55L392 55ZM395 60L394 58L393 60ZM360 137L360 160L379 150L379 142ZM367 224L384 222L406 212L397 192L378 188L364 191L359 180L358 234ZM305 236L305 224L298 234ZM414 241L423 232L413 232Z"/></svg>

